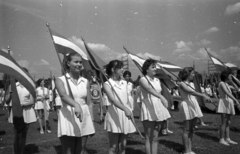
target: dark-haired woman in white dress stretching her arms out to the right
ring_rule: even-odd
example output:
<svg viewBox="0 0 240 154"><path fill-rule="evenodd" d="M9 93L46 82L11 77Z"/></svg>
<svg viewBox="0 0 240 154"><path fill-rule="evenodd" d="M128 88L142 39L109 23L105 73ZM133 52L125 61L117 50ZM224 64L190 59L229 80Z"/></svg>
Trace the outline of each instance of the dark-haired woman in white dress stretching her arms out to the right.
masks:
<svg viewBox="0 0 240 154"><path fill-rule="evenodd" d="M179 72L178 76L182 80L179 85L179 92L183 101L179 105L179 109L180 118L183 121L182 140L184 145L184 154L195 154L192 151L192 138L194 128L197 119L203 115L197 100L191 99L191 95L203 97L207 101L211 101L211 99L207 95L198 93L190 88L190 81L192 81L194 77L194 70L192 67L185 67L182 71Z"/></svg>

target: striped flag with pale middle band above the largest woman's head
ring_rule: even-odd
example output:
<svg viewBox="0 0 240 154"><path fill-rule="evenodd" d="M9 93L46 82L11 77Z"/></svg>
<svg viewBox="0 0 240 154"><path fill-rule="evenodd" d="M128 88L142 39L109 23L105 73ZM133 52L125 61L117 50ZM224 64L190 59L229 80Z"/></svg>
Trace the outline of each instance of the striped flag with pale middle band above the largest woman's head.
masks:
<svg viewBox="0 0 240 154"><path fill-rule="evenodd" d="M50 27L49 27L49 31L50 31L50 34L52 35L53 43L55 44L55 47L58 53L67 55L69 53L76 52L82 57L82 63L83 63L84 69L92 69L92 66L90 64L90 61L87 55L83 52L81 48L79 48L73 42L69 41L64 36L51 30Z"/></svg>

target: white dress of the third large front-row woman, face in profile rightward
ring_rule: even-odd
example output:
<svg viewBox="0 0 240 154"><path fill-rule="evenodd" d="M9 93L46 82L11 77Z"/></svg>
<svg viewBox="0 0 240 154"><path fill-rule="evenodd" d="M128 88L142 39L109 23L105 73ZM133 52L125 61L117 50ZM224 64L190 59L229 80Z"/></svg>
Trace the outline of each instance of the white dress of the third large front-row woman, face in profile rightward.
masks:
<svg viewBox="0 0 240 154"><path fill-rule="evenodd" d="M160 80L154 78L153 80L146 76L148 81L154 87L154 89L161 93L162 88L160 84ZM146 80L145 77L142 77L140 80ZM147 81L147 82L148 82ZM141 108L141 121L148 120L148 121L164 121L171 117L168 110L163 106L161 100L149 92L147 92L144 88L141 87L142 91L142 108Z"/></svg>

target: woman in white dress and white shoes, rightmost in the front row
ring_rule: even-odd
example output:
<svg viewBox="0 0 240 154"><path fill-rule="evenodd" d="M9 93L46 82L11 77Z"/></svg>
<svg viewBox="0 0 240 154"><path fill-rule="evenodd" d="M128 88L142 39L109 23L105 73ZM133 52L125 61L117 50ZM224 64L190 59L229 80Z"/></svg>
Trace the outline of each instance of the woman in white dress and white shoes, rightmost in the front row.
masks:
<svg viewBox="0 0 240 154"><path fill-rule="evenodd" d="M238 100L231 94L229 85L227 82L232 81L230 72L223 71L221 73L221 82L218 85L219 92L219 103L217 108L217 113L220 113L222 124L220 127L220 144L229 145L229 144L238 144L230 139L230 124L231 116L235 115L234 102L237 104L238 109L240 109L240 104Z"/></svg>

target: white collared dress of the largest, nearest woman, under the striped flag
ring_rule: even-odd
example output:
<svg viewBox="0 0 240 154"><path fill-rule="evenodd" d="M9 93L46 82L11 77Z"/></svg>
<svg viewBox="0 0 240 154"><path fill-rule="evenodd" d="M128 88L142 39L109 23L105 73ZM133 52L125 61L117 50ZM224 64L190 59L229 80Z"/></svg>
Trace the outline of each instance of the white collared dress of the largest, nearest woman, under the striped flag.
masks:
<svg viewBox="0 0 240 154"><path fill-rule="evenodd" d="M82 137L94 134L95 128L92 122L88 105L86 104L88 81L87 79L80 77L78 79L77 85L75 85L68 73L66 76L71 87L74 100L81 105L83 118L82 122L80 122L79 118L77 118L75 115L74 108L64 103L62 100L62 107L59 110L58 114L58 137L64 135ZM65 76L61 76L59 79L61 79L64 83L66 93L69 95Z"/></svg>

